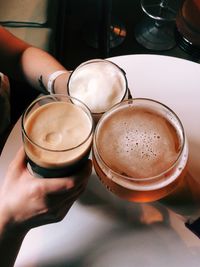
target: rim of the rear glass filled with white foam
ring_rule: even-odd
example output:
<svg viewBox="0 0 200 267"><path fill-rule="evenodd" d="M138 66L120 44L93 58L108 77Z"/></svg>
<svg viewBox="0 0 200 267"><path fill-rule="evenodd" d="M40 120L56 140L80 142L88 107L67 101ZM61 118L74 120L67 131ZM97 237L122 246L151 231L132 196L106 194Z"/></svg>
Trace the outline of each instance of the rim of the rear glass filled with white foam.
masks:
<svg viewBox="0 0 200 267"><path fill-rule="evenodd" d="M87 60L85 62L82 62L80 65L78 65L74 70L72 70L70 72L70 75L69 75L69 79L67 81L67 93L68 95L70 96L70 90L69 90L69 87L70 87L70 80L71 80L71 77L74 75L74 73L81 67L85 66L85 65L88 65L88 64L91 64L91 63L97 63L97 62L107 62L109 64L112 64L114 65L123 75L124 77L124 81L125 81L125 91L124 91L124 94L122 95L122 98L119 100L120 102L123 101L128 93L128 80L127 80L127 77L126 77L126 72L119 67L119 65L117 65L116 63L108 60L108 59L102 59L102 58L95 58L95 59L90 59L90 60ZM114 104L115 105L115 104ZM88 107L89 108L89 107ZM110 107L111 108L111 107ZM110 108L108 108L106 111L108 111ZM90 109L90 108L89 108ZM90 110L91 111L91 110ZM100 111L100 112L92 112L91 113L95 116L99 116L101 114L104 114L106 111Z"/></svg>

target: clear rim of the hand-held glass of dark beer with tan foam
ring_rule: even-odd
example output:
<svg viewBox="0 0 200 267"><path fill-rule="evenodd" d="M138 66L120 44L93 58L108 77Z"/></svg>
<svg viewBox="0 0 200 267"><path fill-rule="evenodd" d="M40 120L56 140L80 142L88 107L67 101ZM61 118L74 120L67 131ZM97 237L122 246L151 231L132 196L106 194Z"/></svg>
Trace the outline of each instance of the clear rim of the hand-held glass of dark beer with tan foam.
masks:
<svg viewBox="0 0 200 267"><path fill-rule="evenodd" d="M24 120L25 120L25 117L27 115L27 112L29 111L29 109L31 107L33 107L38 101L41 101L42 99L47 99L47 98L56 98L56 97L62 97L62 98L65 98L65 99L72 99L72 100L75 100L77 102L79 102L81 105L84 106L84 108L86 108L86 110L88 111L88 118L90 119L91 121L91 129L90 129L90 132L88 134L88 136L78 145L76 146L73 146L71 148L67 148L67 149L50 149L50 148L46 148L46 147L43 147L39 144L37 144L35 141L33 141L27 134L26 130L25 130L25 127L24 127ZM63 102L63 101L60 101L60 102ZM75 105L75 104L74 104ZM82 108L82 107L81 107ZM85 112L85 111L84 111ZM86 112L85 112L86 113ZM86 143L89 138L92 136L93 134L93 131L94 131L94 120L92 118L92 115L91 115L91 111L90 109L87 107L86 104L84 104L81 100L75 98L75 97L72 97L72 96L69 96L69 95L65 95L65 94L48 94L48 95L42 95L42 96L39 96L37 97L34 101L32 101L28 107L25 109L25 111L22 113L22 118L21 118L21 129L22 129L22 134L23 136L34 146L37 146L38 148L42 149L42 150L45 150L45 151L49 151L49 152L67 152L67 151L72 151L73 149L76 149L78 147L81 147L84 143Z"/></svg>

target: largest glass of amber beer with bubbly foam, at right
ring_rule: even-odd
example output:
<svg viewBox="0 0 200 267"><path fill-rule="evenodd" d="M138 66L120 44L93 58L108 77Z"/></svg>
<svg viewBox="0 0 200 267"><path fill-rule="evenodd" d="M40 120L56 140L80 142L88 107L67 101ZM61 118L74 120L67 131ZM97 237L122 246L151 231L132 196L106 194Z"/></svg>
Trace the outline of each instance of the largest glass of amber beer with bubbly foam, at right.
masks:
<svg viewBox="0 0 200 267"><path fill-rule="evenodd" d="M181 121L157 101L123 101L97 124L94 168L102 183L121 198L134 202L163 198L182 181L187 159Z"/></svg>

